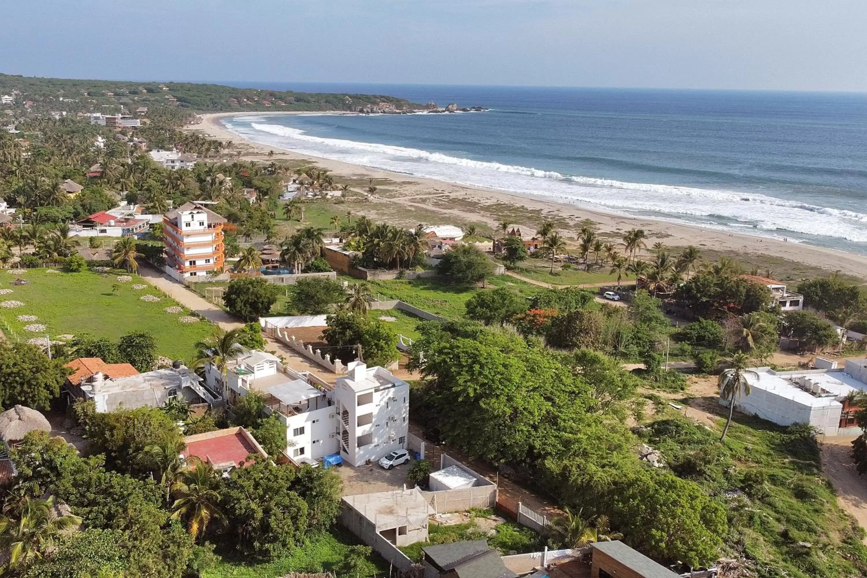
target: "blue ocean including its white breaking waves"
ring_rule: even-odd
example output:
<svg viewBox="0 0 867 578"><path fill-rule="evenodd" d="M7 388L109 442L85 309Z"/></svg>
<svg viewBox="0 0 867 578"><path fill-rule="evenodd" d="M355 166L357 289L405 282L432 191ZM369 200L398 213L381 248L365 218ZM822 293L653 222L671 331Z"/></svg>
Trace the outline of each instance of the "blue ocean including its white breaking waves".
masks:
<svg viewBox="0 0 867 578"><path fill-rule="evenodd" d="M245 83L461 114L252 115L233 133L597 211L867 254L867 94Z"/></svg>

